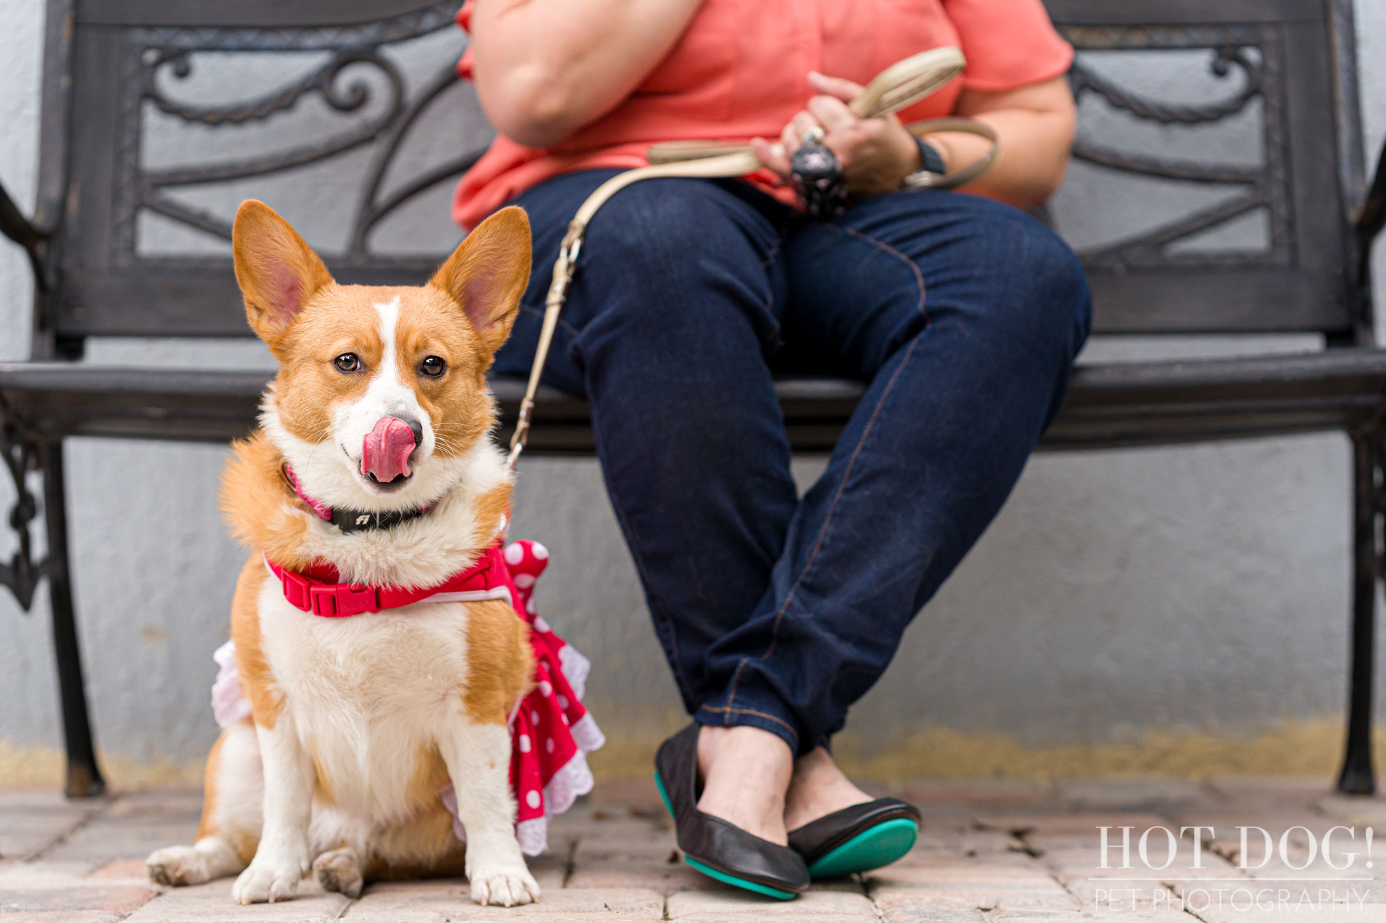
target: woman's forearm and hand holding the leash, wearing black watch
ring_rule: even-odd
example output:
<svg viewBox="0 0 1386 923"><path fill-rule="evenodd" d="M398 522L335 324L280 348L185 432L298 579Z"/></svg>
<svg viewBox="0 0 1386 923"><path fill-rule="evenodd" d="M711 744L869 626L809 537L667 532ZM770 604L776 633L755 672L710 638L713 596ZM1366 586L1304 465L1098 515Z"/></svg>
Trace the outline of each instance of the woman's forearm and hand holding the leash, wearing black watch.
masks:
<svg viewBox="0 0 1386 923"><path fill-rule="evenodd" d="M848 187L858 194L888 193L920 169L919 148L895 116L858 119L847 108L847 101L862 91L861 85L821 73L811 73L809 85L821 96L784 126L780 144L757 139L755 150L766 166L787 173L789 157L800 137L814 125L822 125L827 132L823 143L837 154ZM1076 125L1073 94L1062 76L1001 93L963 90L956 112L985 122L1001 141L997 162L984 176L963 186L963 191L1033 208L1059 188ZM949 170L981 158L991 144L960 133L930 134L927 140L942 154Z"/></svg>

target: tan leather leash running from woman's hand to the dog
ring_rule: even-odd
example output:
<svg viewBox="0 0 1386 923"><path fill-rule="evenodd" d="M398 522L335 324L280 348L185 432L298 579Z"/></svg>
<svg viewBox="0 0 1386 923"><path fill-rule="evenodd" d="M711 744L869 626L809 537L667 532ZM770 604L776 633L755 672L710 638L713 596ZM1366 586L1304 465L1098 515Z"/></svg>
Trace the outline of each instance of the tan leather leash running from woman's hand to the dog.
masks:
<svg viewBox="0 0 1386 923"><path fill-rule="evenodd" d="M952 46L911 55L877 73L861 96L847 104L847 108L858 118L880 118L898 112L938 90L962 73L966 65L967 61L962 51ZM954 188L970 183L991 169L997 161L999 151L997 133L981 122L966 118L938 118L912 122L905 129L916 137L937 132L962 132L979 134L991 141L991 150L985 155L962 169L938 176L937 180L926 184L929 188ZM568 223L568 231L563 236L559 258L553 263L553 283L549 285L549 295L545 299L543 326L535 346L534 366L529 369L529 383L525 387L524 401L520 402L514 435L510 438L509 466L511 468L520 460L520 453L524 452L525 441L529 438L534 398L539 391L539 380L543 377L549 348L553 345L553 331L559 326L559 313L568 298L568 287L572 284L572 274L577 270L578 254L582 251L582 237L586 233L588 222L597 213L597 209L622 188L640 180L733 177L754 173L765 166L748 144L671 141L651 146L649 158L649 166L625 170L599 186L578 208L578 213Z"/></svg>

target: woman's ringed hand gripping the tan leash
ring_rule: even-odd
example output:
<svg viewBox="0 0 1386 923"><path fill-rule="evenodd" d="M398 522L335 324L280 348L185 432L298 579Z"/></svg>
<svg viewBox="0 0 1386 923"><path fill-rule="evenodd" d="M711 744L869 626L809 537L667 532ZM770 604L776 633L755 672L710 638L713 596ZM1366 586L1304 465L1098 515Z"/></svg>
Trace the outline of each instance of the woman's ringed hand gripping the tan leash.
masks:
<svg viewBox="0 0 1386 923"><path fill-rule="evenodd" d="M778 144L755 139L757 157L780 176L789 176L789 159L804 133L822 126L823 144L837 155L847 188L857 195L875 195L900 188L900 182L920 169L919 147L894 115L863 119L847 108L863 87L843 78L809 72L808 85L818 96L796 114L780 132Z"/></svg>

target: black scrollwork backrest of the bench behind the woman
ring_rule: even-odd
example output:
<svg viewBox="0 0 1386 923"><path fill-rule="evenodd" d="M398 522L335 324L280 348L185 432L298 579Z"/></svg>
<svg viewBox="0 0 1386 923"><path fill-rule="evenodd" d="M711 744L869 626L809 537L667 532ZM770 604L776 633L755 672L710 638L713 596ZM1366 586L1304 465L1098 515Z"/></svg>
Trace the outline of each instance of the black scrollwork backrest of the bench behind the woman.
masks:
<svg viewBox="0 0 1386 923"><path fill-rule="evenodd" d="M67 4L57 4L64 7ZM344 280L407 281L446 252L381 252L373 231L416 195L450 183L473 150L399 176L401 141L428 130L455 101L450 62L426 79L402 73L398 51L430 33L456 33L456 3L76 3L72 87L50 86L46 104L69 104L71 128L44 146L44 191L58 226L60 290L47 320L65 351L89 335L247 335L226 255L148 252L140 226L161 222L226 241L230 213L209 208L208 190L255 190L255 180L346 162L353 208L327 247ZM1321 331L1354 326L1346 265L1347 222L1329 202L1360 194L1357 115L1337 105L1344 82L1335 60L1335 12L1321 0L1155 1L1053 0L1052 14L1080 49L1071 72L1080 101L1131 122L1171 132L1236 119L1254 109L1254 158L1224 162L1196 146L1161 157L1082 137L1078 164L1131 180L1170 180L1220 193L1206 205L1084 248L1096 290L1096 330L1109 333ZM457 39L460 43L460 37ZM1105 76L1112 53L1149 55L1196 50L1217 96L1166 103ZM316 53L316 54L315 54ZM1089 64L1088 53L1100 61ZM204 60L280 54L309 61L292 79L233 101L188 101ZM50 57L50 64L62 67ZM49 73L50 82L61 73ZM218 94L218 96L226 96ZM64 98L69 97L69 98ZM1346 101L1346 100L1344 100ZM295 109L340 115L328 130L294 132ZM1337 118L1335 119L1335 114ZM152 164L151 123L180 121L234 137L240 129L284 123L281 143L252 154L215 151L176 165ZM1293 130L1292 130L1293 126ZM477 143L480 141L480 143ZM233 146L234 147L234 146ZM62 154L65 152L65 157ZM65 168L62 161L65 161ZM388 183L384 182L388 175ZM229 202L229 200L222 200ZM1120 208L1120 204L1117 205ZM1188 251L1198 234L1256 215L1264 245ZM1060 225L1062 230L1062 225ZM333 252L335 251L335 252Z"/></svg>

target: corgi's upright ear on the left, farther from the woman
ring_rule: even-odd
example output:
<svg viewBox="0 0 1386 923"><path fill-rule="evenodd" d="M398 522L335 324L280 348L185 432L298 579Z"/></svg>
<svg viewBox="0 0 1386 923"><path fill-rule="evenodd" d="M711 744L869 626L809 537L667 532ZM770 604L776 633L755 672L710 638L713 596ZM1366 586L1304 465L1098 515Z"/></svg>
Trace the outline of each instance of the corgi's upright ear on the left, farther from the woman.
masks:
<svg viewBox="0 0 1386 923"><path fill-rule="evenodd" d="M251 328L272 349L319 288L333 281L327 266L279 212L241 202L231 229L236 281Z"/></svg>

